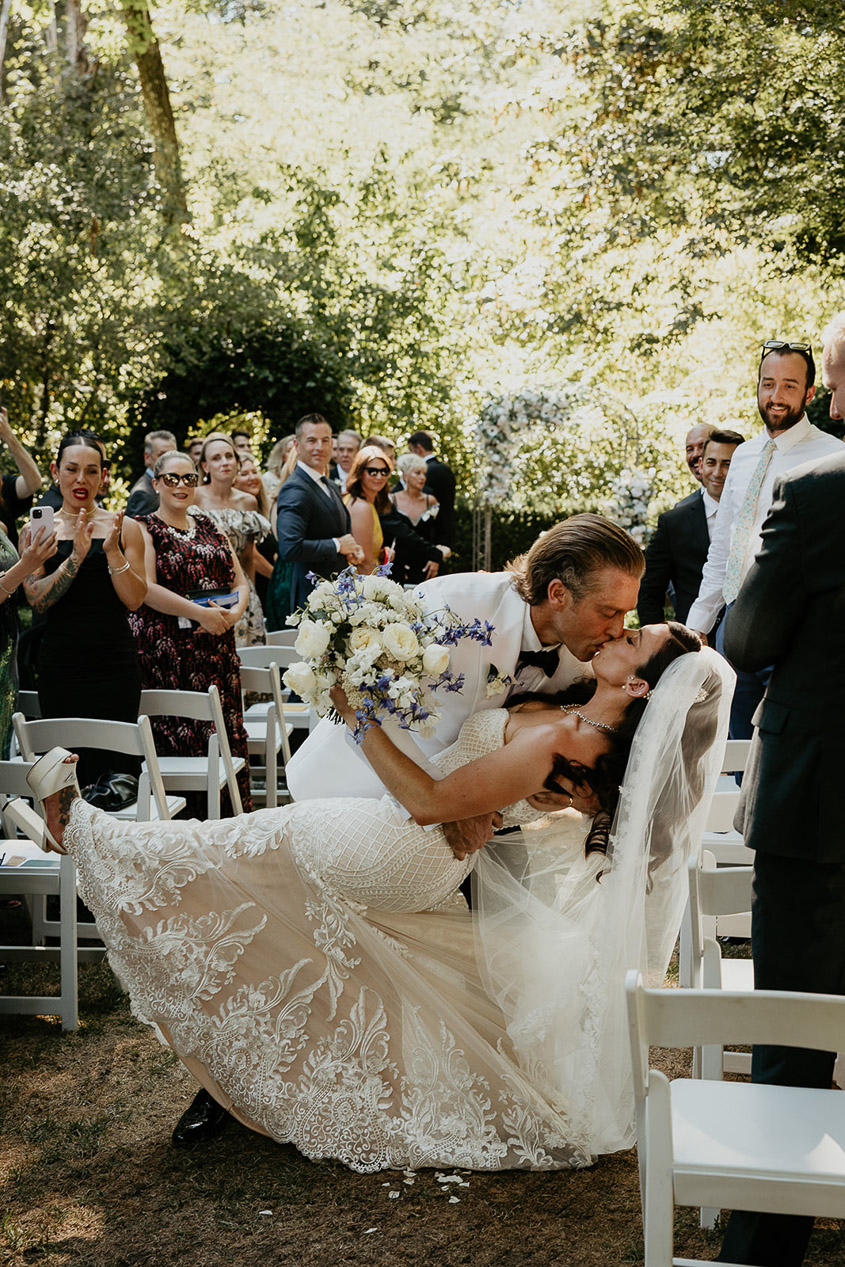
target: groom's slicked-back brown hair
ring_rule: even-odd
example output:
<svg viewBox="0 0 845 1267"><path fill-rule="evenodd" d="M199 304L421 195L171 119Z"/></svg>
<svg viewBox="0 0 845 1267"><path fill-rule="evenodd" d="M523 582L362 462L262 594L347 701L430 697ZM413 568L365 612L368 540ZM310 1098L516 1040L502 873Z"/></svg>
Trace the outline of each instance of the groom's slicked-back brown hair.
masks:
<svg viewBox="0 0 845 1267"><path fill-rule="evenodd" d="M584 598L593 576L604 568L617 568L637 579L645 563L642 550L625 528L600 514L573 514L543 532L527 554L507 564L513 584L530 607L549 597L552 580L561 580L575 602Z"/></svg>

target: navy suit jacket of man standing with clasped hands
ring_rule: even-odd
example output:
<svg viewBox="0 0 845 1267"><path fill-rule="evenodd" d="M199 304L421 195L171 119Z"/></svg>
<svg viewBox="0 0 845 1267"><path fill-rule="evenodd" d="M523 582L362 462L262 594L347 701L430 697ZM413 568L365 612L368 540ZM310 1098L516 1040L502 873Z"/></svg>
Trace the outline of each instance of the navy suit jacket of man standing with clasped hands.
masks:
<svg viewBox="0 0 845 1267"><path fill-rule="evenodd" d="M334 576L346 568L346 557L337 552L332 538L350 531L350 512L337 484L329 481L328 489L329 497L299 466L279 489L276 537L279 557L294 564L291 611L300 607L314 588L307 573Z"/></svg>

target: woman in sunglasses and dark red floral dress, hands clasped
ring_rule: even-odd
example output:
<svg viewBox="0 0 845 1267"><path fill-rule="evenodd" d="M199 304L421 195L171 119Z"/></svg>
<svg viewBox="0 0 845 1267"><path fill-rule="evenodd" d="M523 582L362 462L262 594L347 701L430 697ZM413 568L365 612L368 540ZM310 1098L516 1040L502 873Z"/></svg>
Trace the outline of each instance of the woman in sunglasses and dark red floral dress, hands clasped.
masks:
<svg viewBox="0 0 845 1267"><path fill-rule="evenodd" d="M136 521L143 533L147 599L130 623L144 688L208 691L214 683L232 753L246 758L234 626L247 608L250 590L226 533L194 508L198 483L186 454L162 454L153 468L158 509ZM219 602L196 602L203 593L217 594ZM236 595L232 606L224 595ZM161 756L195 755L205 749L209 729L209 722L182 717L152 720ZM246 811L252 806L248 770L242 770L238 782ZM203 817L200 799L189 803L189 810Z"/></svg>

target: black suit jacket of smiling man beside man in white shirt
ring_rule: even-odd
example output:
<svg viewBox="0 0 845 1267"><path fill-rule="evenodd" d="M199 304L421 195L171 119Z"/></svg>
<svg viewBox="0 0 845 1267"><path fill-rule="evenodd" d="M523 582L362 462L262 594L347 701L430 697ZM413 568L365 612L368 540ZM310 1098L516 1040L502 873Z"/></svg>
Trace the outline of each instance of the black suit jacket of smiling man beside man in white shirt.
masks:
<svg viewBox="0 0 845 1267"><path fill-rule="evenodd" d="M708 549L704 498L701 493L690 493L670 511L664 511L646 546L646 570L637 598L640 625L663 621L670 583L675 590L675 616L679 621L687 620L698 598Z"/></svg>

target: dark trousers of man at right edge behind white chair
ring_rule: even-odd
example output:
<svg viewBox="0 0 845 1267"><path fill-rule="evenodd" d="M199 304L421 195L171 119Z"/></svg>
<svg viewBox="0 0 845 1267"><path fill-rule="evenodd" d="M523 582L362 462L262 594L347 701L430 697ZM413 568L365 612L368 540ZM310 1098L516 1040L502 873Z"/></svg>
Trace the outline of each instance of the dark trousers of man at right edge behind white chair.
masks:
<svg viewBox="0 0 845 1267"><path fill-rule="evenodd" d="M751 908L758 990L845 995L845 865L758 853ZM835 1052L755 1047L751 1079L787 1087L830 1087ZM731 1215L720 1262L799 1267L813 1220L802 1215Z"/></svg>

